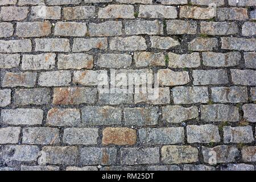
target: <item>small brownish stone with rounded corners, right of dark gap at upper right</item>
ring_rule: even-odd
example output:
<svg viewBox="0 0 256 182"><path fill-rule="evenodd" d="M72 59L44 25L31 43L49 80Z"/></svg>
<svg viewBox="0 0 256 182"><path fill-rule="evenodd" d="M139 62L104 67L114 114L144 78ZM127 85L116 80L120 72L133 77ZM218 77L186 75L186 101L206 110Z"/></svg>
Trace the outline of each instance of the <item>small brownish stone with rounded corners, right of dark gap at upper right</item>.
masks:
<svg viewBox="0 0 256 182"><path fill-rule="evenodd" d="M216 38L195 38L188 43L188 49L191 51L213 51L218 47Z"/></svg>

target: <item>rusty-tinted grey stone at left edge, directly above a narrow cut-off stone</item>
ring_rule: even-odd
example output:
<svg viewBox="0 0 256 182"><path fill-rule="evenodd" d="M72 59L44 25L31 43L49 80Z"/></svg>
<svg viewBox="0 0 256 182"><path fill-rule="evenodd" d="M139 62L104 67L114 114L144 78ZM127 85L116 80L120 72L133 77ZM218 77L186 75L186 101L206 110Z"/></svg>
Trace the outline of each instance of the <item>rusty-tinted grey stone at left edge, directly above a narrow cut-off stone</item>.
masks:
<svg viewBox="0 0 256 182"><path fill-rule="evenodd" d="M6 72L2 86L3 87L16 87L16 86L24 86L24 87L34 87L36 82L36 73L32 72Z"/></svg>

